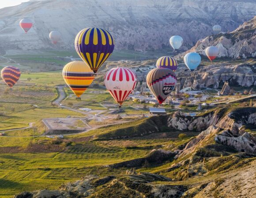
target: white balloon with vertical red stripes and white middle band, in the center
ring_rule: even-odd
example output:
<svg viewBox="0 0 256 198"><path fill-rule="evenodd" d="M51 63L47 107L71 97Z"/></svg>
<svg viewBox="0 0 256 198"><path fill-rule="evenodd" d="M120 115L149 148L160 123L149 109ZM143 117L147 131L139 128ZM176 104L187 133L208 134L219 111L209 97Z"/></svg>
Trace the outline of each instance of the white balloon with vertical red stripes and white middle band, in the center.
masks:
<svg viewBox="0 0 256 198"><path fill-rule="evenodd" d="M105 86L120 106L136 87L135 73L124 67L109 70L104 79ZM119 106L119 107L120 107Z"/></svg>

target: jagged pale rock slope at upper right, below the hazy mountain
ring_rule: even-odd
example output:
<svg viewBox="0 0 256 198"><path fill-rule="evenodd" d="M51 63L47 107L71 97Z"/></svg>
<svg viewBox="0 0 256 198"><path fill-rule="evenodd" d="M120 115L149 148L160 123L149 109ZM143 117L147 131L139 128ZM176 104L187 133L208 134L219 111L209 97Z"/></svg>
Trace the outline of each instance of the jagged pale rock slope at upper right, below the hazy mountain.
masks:
<svg viewBox="0 0 256 198"><path fill-rule="evenodd" d="M218 57L256 57L256 16L231 33L219 33L198 40L193 48L180 56L192 51L205 55L204 50L208 46L216 46L219 49Z"/></svg>

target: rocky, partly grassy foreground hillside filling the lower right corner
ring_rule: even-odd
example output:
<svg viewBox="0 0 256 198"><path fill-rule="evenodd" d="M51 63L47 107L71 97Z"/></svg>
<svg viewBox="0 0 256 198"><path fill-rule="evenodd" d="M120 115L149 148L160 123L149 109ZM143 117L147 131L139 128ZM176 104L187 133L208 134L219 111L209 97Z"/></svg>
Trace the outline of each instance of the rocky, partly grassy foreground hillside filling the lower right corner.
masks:
<svg viewBox="0 0 256 198"><path fill-rule="evenodd" d="M171 133L203 131L182 144L162 145L144 158L107 165L111 169L128 168L123 175L85 176L55 191L23 192L15 198L119 198L120 194L131 198L253 197L256 108L224 108L195 117L176 112L165 117L153 120L158 124L167 120L166 125L174 129Z"/></svg>

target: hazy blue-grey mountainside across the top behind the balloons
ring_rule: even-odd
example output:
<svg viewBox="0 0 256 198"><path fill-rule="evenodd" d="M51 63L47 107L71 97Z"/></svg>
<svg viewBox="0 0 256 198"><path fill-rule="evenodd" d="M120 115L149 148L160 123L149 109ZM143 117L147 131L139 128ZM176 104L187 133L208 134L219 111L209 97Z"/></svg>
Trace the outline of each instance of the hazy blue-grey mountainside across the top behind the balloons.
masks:
<svg viewBox="0 0 256 198"><path fill-rule="evenodd" d="M0 10L0 53L73 49L75 35L91 26L113 33L116 49L170 49L169 37L181 35L187 50L215 24L232 31L256 15L255 7L255 0L32 0ZM28 34L19 27L25 17L34 21ZM62 34L57 46L48 38L52 30Z"/></svg>

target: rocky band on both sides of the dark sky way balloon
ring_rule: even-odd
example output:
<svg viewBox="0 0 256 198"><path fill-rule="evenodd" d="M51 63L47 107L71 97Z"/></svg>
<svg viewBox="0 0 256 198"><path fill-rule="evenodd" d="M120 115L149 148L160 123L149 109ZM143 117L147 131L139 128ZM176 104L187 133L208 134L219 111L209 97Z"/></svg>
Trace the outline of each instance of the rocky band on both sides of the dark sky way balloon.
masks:
<svg viewBox="0 0 256 198"><path fill-rule="evenodd" d="M106 67L101 68L104 74L107 70L117 65L128 67L138 78L141 84L137 88L146 88L147 73L155 68L156 60L148 61L118 61L108 62ZM246 59L237 61L214 61L212 63L203 61L197 70L190 72L184 63L179 61L179 66L175 72L178 78L177 88L183 89L192 87L194 90L202 88L222 88L225 81L230 86L252 87L256 86L256 59ZM97 79L101 81L100 79Z"/></svg>

